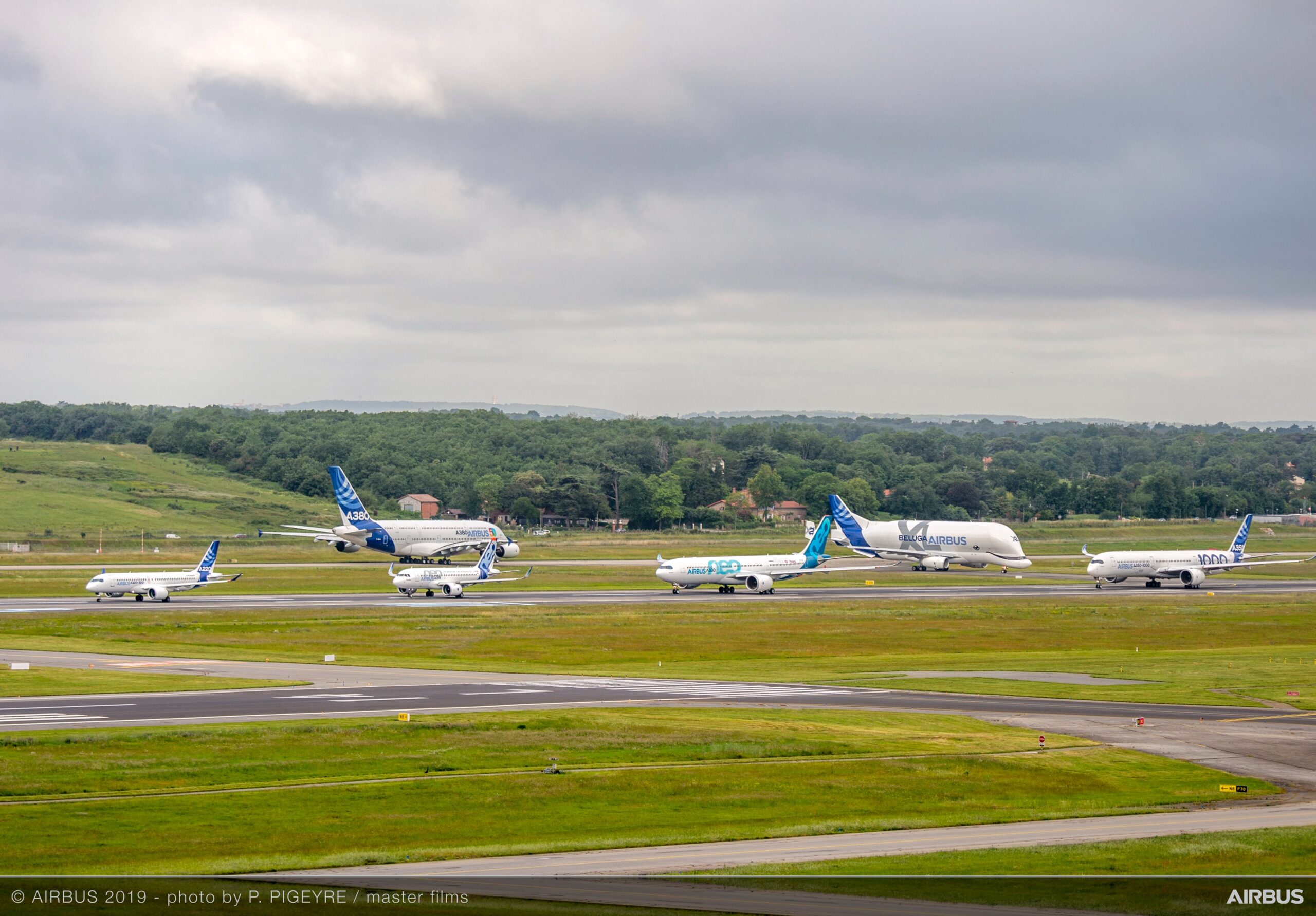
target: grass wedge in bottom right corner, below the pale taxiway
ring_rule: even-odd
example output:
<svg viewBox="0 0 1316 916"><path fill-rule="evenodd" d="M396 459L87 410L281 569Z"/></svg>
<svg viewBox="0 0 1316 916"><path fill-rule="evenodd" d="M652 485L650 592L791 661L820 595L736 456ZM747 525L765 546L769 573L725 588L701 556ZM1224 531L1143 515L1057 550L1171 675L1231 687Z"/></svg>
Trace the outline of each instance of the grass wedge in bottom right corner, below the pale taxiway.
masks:
<svg viewBox="0 0 1316 916"><path fill-rule="evenodd" d="M1316 828L755 865L734 875L1309 875Z"/></svg>

